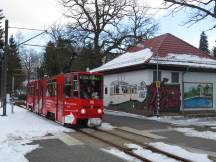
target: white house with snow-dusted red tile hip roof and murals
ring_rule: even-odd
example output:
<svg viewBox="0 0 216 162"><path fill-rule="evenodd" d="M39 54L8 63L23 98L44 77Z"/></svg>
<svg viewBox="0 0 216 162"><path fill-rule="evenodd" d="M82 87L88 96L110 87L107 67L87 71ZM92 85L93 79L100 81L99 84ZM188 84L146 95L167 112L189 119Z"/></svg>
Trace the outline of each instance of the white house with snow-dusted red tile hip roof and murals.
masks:
<svg viewBox="0 0 216 162"><path fill-rule="evenodd" d="M146 87L158 75L168 80L165 84L179 86L180 111L216 110L216 59L169 33L144 40L91 71L104 73L105 106L143 102L150 93Z"/></svg>

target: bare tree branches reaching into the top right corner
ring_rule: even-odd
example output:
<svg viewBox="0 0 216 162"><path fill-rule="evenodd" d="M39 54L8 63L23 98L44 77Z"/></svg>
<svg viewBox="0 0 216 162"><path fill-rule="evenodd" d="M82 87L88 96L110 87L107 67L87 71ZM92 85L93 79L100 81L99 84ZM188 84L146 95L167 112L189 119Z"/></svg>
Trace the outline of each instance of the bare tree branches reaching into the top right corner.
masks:
<svg viewBox="0 0 216 162"><path fill-rule="evenodd" d="M172 12L189 8L190 16L185 24L195 24L207 18L216 19L216 0L164 0L168 8L172 8ZM216 28L213 25L210 29Z"/></svg>

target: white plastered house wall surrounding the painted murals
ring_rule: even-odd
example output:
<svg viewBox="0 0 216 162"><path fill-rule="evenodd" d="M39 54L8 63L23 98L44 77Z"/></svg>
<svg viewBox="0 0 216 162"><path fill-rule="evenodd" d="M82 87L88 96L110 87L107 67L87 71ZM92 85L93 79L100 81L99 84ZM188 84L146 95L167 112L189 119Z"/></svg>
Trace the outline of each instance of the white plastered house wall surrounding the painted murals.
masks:
<svg viewBox="0 0 216 162"><path fill-rule="evenodd" d="M138 81L145 81L147 85L153 82L153 71L155 70L138 70L131 72L123 72L118 74L104 75L104 87L107 88L108 93L104 94L104 105L108 106L110 103L110 85L113 81L125 81L128 83L136 83ZM167 78L168 83L171 83L171 72L169 70L160 70L161 79ZM182 76L184 75L184 79ZM214 73L201 73L201 72L179 72L179 83L181 89L181 100L183 99L182 81L195 82L195 83L212 83L213 84L213 108L216 109L216 74ZM183 106L181 105L181 110ZM194 110L194 109L193 109ZM201 110L199 108L199 110ZM208 109L209 110L209 109Z"/></svg>

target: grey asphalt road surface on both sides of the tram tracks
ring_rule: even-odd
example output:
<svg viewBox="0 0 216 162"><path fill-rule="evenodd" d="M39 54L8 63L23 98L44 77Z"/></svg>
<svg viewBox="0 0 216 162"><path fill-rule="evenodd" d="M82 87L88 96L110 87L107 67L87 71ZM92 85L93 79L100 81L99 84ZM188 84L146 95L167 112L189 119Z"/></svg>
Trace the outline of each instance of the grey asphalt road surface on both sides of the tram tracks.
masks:
<svg viewBox="0 0 216 162"><path fill-rule="evenodd" d="M216 141L196 137L187 137L183 133L173 130L176 126L160 123L147 119L136 119L132 117L105 115L104 122L117 127L129 127L137 131L150 131L164 139L151 139L151 142L165 142L172 145L179 145L189 150L196 150L202 153L209 153L216 156ZM123 162L124 160L108 154L101 150L107 148L92 139L80 137L76 132L69 134L82 144L68 145L64 141L56 139L37 140L33 144L39 144L40 148L28 153L26 158L30 162ZM70 140L70 138L68 139ZM71 140L73 140L71 138ZM69 142L72 143L72 142Z"/></svg>

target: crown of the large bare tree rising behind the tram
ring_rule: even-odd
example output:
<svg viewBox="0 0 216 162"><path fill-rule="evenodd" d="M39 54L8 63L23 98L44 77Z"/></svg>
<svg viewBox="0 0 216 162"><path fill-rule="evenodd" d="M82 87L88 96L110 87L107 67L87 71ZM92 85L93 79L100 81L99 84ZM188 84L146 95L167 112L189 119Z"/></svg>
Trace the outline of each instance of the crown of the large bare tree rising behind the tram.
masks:
<svg viewBox="0 0 216 162"><path fill-rule="evenodd" d="M61 1L69 11L65 16L73 22L68 26L70 39L82 46L93 44L96 54L125 50L131 40L157 31L157 24L146 17L146 9L137 7L136 0Z"/></svg>

